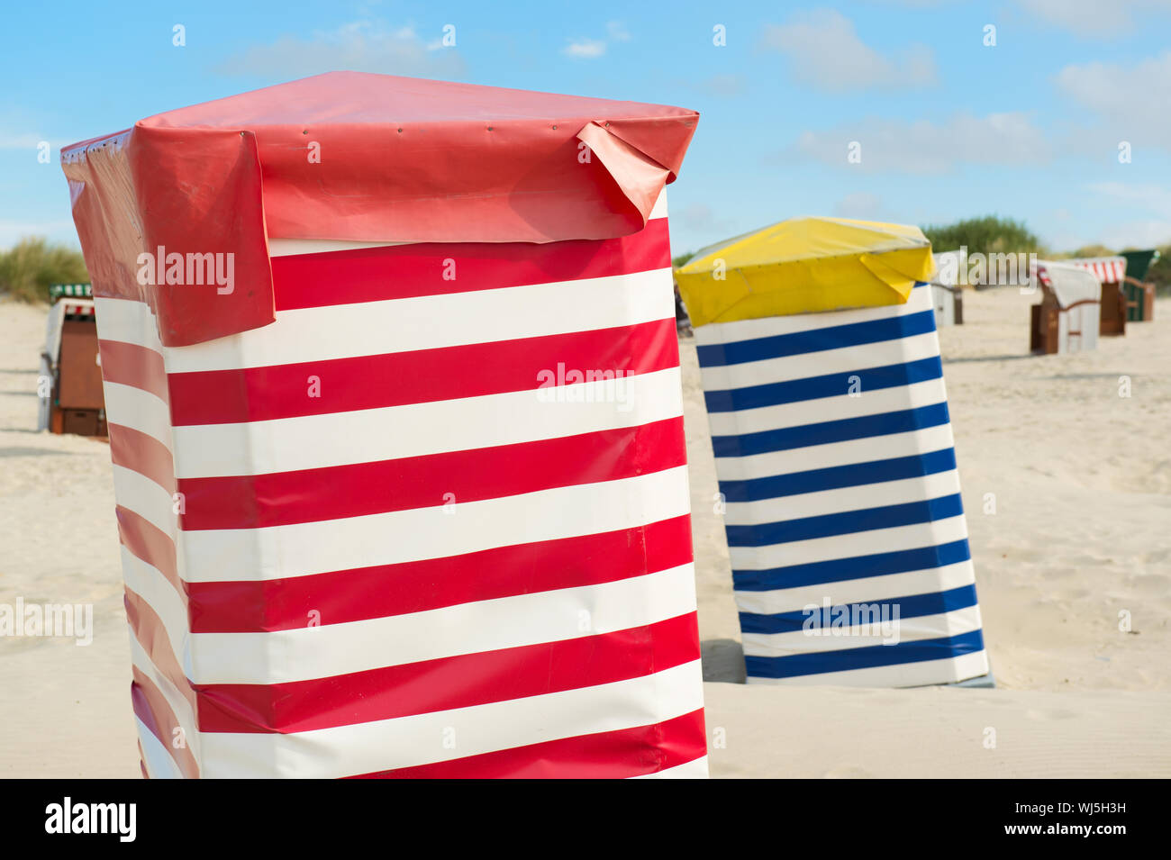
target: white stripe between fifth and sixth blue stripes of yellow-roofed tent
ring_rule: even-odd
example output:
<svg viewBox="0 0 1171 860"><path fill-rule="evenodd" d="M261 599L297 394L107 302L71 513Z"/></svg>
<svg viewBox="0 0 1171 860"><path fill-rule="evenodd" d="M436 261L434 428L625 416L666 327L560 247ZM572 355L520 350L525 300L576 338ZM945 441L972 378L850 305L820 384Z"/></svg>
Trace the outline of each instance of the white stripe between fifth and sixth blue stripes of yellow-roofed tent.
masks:
<svg viewBox="0 0 1171 860"><path fill-rule="evenodd" d="M849 535L790 541L771 546L730 546L733 570L772 570L794 564L828 562L837 558L899 552L920 546L938 546L967 537L964 515L927 523L897 525L890 529L855 531Z"/></svg>

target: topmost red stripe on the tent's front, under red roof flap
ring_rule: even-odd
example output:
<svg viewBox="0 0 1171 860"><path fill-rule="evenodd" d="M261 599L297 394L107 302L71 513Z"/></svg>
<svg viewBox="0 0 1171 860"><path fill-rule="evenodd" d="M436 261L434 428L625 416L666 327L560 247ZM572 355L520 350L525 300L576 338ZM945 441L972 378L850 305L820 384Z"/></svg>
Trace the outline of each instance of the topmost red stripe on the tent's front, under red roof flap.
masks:
<svg viewBox="0 0 1171 860"><path fill-rule="evenodd" d="M657 218L638 233L601 241L399 245L272 263L276 310L293 310L630 275L667 268L671 250L666 219Z"/></svg>

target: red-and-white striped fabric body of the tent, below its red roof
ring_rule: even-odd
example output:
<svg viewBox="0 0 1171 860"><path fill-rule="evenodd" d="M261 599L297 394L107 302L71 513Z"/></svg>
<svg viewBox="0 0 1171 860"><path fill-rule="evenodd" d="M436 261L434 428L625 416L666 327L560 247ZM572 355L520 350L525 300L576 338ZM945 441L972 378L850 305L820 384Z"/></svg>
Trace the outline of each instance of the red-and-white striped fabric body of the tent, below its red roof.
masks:
<svg viewBox="0 0 1171 860"><path fill-rule="evenodd" d="M273 269L97 300L144 772L706 776L666 219Z"/></svg>

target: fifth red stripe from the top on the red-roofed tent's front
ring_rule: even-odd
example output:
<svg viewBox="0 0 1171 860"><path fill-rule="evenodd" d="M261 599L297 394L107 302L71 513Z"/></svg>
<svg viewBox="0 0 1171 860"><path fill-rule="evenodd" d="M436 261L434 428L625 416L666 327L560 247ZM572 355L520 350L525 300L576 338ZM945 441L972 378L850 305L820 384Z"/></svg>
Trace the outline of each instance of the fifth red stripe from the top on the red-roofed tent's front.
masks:
<svg viewBox="0 0 1171 860"><path fill-rule="evenodd" d="M294 732L643 677L699 659L696 613L630 629L274 684L200 684L200 731Z"/></svg>

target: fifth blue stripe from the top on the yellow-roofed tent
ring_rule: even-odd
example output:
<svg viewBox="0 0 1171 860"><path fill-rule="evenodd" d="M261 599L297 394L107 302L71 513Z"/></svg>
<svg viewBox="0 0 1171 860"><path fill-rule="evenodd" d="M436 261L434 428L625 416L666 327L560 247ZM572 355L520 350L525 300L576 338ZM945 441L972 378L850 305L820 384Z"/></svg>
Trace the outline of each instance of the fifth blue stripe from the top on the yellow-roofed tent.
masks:
<svg viewBox="0 0 1171 860"><path fill-rule="evenodd" d="M783 520L778 523L756 525L726 525L728 546L773 546L793 541L810 541L817 537L854 535L858 531L893 529L899 525L930 523L964 512L964 503L958 493L925 502L885 504L879 508L847 510L841 514L823 514L800 520Z"/></svg>

